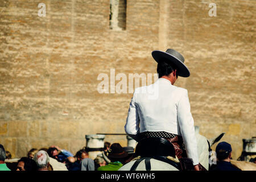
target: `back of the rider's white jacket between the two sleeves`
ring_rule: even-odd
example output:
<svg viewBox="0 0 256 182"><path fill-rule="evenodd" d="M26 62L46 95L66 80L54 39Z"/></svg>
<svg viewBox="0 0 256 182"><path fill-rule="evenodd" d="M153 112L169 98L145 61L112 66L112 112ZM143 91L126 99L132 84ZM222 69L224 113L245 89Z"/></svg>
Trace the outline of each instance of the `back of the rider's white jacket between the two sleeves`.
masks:
<svg viewBox="0 0 256 182"><path fill-rule="evenodd" d="M177 105L187 90L171 84L165 78L159 78L153 85L134 92L134 101L140 119L140 133L144 131L166 131L181 135L177 122ZM150 96L156 96L150 98Z"/></svg>

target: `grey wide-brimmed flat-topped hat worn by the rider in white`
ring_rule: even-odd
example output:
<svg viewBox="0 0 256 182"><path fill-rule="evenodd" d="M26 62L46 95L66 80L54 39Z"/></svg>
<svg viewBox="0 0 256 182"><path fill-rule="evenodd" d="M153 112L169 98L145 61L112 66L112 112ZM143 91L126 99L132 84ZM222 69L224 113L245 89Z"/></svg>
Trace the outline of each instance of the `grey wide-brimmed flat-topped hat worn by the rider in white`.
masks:
<svg viewBox="0 0 256 182"><path fill-rule="evenodd" d="M174 49L163 51L152 51L152 57L156 62L165 61L166 63L174 64L177 67L178 75L181 77L189 77L190 72L184 64L184 57Z"/></svg>

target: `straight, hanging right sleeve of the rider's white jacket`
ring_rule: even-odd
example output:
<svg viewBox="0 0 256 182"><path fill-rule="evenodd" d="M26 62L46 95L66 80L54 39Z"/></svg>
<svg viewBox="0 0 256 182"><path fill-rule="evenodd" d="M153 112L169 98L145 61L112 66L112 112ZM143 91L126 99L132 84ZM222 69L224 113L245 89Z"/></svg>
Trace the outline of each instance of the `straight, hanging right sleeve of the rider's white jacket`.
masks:
<svg viewBox="0 0 256 182"><path fill-rule="evenodd" d="M183 138L188 158L193 159L193 165L199 164L197 154L197 141L195 135L194 120L190 110L188 91L180 98L177 105L177 119L179 121L180 132Z"/></svg>

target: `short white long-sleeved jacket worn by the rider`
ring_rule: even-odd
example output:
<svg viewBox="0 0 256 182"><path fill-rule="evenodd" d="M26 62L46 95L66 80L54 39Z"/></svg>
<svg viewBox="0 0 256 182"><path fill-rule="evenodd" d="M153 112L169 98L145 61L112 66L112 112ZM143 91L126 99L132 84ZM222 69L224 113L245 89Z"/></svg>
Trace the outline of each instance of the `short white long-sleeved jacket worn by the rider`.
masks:
<svg viewBox="0 0 256 182"><path fill-rule="evenodd" d="M193 165L199 164L188 91L172 85L166 78L159 78L150 86L135 89L125 131L131 137L144 131L166 131L181 135L188 158L193 159Z"/></svg>

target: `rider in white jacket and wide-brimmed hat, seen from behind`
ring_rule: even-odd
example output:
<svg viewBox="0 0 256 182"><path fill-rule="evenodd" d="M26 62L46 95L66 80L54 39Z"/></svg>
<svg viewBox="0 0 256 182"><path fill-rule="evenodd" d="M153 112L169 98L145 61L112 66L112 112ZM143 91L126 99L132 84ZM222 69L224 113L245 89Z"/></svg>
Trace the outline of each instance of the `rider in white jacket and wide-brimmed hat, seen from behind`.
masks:
<svg viewBox="0 0 256 182"><path fill-rule="evenodd" d="M184 65L184 57L174 49L167 49L166 52L152 51L152 57L158 63L159 79L152 85L135 89L125 131L137 142L145 137L169 140L177 158L191 158L195 170L199 171L201 165L188 91L174 86L178 76L190 75ZM158 97L150 99L149 95L156 92L156 88Z"/></svg>

